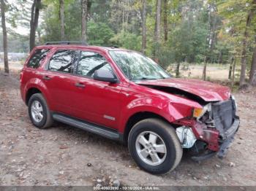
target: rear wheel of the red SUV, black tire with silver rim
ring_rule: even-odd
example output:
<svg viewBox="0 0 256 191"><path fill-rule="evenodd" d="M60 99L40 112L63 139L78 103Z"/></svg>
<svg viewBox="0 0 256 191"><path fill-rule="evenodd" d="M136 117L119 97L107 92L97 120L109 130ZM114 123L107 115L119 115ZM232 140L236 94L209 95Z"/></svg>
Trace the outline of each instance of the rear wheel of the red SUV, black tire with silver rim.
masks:
<svg viewBox="0 0 256 191"><path fill-rule="evenodd" d="M35 107L37 107L37 111L33 112ZM38 113L42 115L42 118ZM29 117L37 128L49 128L53 124L53 117L42 93L35 93L29 98Z"/></svg>

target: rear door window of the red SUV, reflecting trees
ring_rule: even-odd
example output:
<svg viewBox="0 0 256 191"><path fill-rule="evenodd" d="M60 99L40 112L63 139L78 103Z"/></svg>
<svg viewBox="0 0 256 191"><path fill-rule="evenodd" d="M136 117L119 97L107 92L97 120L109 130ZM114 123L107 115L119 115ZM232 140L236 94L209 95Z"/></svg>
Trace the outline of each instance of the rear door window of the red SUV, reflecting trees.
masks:
<svg viewBox="0 0 256 191"><path fill-rule="evenodd" d="M73 73L77 60L77 50L58 50L54 53L53 57L50 58L48 70Z"/></svg>

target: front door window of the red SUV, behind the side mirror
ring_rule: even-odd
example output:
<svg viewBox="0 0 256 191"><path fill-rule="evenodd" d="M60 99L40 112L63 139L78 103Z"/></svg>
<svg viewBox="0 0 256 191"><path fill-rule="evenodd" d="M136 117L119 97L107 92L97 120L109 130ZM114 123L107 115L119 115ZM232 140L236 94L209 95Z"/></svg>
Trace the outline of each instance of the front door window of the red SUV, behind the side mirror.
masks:
<svg viewBox="0 0 256 191"><path fill-rule="evenodd" d="M108 61L106 61L102 55L99 55L99 53L81 51L78 62L78 74L86 77L93 77L94 72L98 69L105 69L113 72Z"/></svg>

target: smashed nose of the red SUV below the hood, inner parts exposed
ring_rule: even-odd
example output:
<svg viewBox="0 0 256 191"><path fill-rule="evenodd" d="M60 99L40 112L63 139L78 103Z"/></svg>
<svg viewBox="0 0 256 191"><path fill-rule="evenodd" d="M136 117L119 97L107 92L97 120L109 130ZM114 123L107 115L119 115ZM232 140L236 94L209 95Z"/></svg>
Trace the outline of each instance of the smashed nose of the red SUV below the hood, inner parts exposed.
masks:
<svg viewBox="0 0 256 191"><path fill-rule="evenodd" d="M176 133L181 145L194 155L193 160L205 160L216 155L224 157L239 127L236 101L210 102L193 111L192 117L177 120Z"/></svg>

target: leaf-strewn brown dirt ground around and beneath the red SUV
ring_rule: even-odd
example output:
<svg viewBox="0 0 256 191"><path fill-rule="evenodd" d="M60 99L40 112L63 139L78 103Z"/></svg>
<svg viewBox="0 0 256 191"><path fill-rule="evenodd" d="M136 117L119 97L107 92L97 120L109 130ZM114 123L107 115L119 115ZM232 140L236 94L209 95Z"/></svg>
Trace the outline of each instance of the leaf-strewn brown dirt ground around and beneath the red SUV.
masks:
<svg viewBox="0 0 256 191"><path fill-rule="evenodd" d="M175 171L141 171L127 147L57 124L31 125L19 81L0 72L0 185L256 185L256 90L234 93L241 127L227 157L195 163L182 158Z"/></svg>

